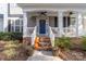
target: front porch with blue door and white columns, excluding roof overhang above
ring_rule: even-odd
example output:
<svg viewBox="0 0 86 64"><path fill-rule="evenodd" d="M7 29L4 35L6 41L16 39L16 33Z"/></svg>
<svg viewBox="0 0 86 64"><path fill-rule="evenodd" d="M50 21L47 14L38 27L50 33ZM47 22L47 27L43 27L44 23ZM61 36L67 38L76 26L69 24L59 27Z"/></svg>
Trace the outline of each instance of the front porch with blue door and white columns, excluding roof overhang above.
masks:
<svg viewBox="0 0 86 64"><path fill-rule="evenodd" d="M56 37L81 37L83 35L82 21L82 13L79 14L77 11L26 12L24 14L23 37L30 37L32 44L34 44L36 37L49 37L54 46Z"/></svg>

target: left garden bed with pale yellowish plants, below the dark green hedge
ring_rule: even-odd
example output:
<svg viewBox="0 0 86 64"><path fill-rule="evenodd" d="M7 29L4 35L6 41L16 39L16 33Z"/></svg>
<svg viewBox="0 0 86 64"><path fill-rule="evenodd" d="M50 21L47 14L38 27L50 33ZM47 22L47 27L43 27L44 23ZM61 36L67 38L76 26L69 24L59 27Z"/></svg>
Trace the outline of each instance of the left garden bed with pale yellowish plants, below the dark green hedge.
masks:
<svg viewBox="0 0 86 64"><path fill-rule="evenodd" d="M33 47L17 41L0 41L0 60L25 61L34 52Z"/></svg>

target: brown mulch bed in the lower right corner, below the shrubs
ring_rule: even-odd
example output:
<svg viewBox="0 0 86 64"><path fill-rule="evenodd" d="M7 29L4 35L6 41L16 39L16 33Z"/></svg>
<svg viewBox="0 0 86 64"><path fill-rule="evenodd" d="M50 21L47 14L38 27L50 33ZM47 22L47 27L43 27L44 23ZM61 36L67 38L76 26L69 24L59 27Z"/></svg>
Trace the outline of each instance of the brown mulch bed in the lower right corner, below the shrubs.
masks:
<svg viewBox="0 0 86 64"><path fill-rule="evenodd" d="M86 51L81 49L62 50L60 51L59 56L64 61L86 61Z"/></svg>

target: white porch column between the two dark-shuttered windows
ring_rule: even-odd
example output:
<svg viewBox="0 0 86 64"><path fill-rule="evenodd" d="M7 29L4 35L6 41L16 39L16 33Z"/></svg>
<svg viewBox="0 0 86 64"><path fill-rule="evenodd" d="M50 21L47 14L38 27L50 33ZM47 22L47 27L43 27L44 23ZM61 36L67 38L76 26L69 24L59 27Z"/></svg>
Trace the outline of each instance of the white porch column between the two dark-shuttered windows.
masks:
<svg viewBox="0 0 86 64"><path fill-rule="evenodd" d="M63 33L63 11L58 12L58 21L59 21L59 36L62 36Z"/></svg>

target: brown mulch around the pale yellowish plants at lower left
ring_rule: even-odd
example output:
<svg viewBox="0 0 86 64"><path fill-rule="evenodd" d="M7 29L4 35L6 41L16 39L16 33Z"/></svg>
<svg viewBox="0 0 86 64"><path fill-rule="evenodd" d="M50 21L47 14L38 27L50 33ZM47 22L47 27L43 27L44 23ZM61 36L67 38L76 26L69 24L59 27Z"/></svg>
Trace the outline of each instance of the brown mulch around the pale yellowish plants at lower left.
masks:
<svg viewBox="0 0 86 64"><path fill-rule="evenodd" d="M5 54L1 53L4 50L3 48L4 46L5 46L4 41L0 41L0 61L26 61L27 60L28 55L26 55L25 53L26 50L23 48L16 49L17 54L14 57L9 60Z"/></svg>

